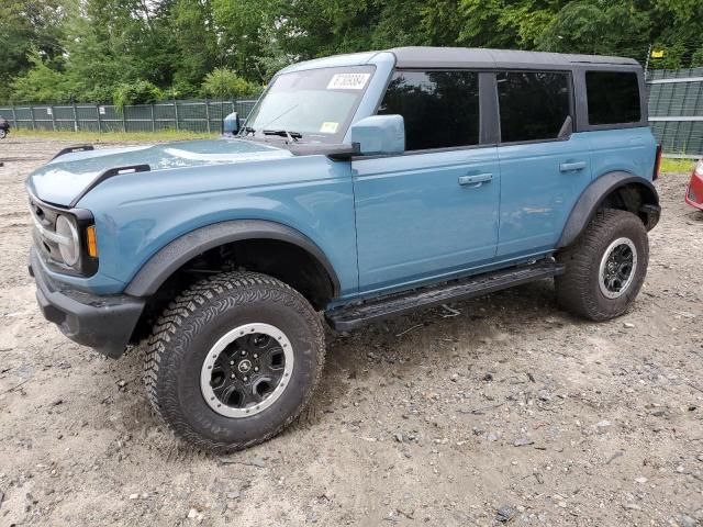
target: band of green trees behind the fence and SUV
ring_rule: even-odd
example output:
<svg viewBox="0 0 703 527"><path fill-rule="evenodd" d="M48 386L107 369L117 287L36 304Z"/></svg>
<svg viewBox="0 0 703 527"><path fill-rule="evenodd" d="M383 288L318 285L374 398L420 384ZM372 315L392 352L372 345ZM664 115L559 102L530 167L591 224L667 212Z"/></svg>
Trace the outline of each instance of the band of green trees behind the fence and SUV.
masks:
<svg viewBox="0 0 703 527"><path fill-rule="evenodd" d="M297 60L403 45L701 66L703 1L1 0L0 102L249 96Z"/></svg>

